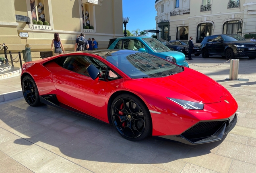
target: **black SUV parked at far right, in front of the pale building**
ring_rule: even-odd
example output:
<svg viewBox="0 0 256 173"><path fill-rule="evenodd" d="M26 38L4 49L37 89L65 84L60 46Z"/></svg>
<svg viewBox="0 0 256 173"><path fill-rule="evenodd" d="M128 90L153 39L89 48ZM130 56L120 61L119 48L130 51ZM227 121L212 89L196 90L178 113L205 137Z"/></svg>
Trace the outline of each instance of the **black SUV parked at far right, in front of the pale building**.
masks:
<svg viewBox="0 0 256 173"><path fill-rule="evenodd" d="M221 55L227 60L244 56L256 58L256 42L246 41L237 34L206 36L200 47L203 58L209 55Z"/></svg>

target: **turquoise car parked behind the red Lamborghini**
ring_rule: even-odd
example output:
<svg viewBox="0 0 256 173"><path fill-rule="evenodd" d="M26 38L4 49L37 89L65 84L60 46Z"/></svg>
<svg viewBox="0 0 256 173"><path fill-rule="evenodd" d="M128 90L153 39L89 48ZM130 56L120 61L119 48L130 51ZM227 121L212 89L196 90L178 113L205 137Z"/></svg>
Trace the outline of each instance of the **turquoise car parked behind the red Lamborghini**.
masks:
<svg viewBox="0 0 256 173"><path fill-rule="evenodd" d="M147 52L149 54L174 62L180 66L189 67L183 53L170 50L159 40L148 36L112 38L109 40L107 49L128 49L136 50L139 52Z"/></svg>

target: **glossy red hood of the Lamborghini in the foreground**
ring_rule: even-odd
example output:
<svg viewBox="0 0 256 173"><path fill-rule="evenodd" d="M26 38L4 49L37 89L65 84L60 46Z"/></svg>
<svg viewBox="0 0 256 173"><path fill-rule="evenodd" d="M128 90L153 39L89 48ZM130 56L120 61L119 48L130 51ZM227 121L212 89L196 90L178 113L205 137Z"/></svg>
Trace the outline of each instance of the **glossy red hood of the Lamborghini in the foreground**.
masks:
<svg viewBox="0 0 256 173"><path fill-rule="evenodd" d="M183 72L162 78L136 79L143 82L145 92L186 101L217 103L226 89L208 76L185 68Z"/></svg>

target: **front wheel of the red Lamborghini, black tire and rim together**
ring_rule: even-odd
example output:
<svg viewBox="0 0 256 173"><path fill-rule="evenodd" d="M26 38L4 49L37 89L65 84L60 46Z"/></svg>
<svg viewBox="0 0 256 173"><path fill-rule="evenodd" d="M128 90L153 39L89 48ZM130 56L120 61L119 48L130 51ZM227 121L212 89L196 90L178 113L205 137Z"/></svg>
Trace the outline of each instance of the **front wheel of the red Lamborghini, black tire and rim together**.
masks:
<svg viewBox="0 0 256 173"><path fill-rule="evenodd" d="M131 94L121 94L111 104L110 116L118 133L130 141L152 135L152 119L143 101Z"/></svg>

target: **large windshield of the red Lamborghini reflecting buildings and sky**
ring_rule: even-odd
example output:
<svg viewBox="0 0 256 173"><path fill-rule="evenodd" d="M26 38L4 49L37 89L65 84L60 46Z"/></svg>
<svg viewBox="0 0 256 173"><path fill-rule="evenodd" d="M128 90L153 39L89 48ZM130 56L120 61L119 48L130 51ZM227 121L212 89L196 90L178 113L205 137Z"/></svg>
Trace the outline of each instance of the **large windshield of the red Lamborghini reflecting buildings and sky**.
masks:
<svg viewBox="0 0 256 173"><path fill-rule="evenodd" d="M122 52L120 53L120 51ZM184 69L177 64L144 52L120 51L103 58L130 78L164 77L182 72Z"/></svg>

